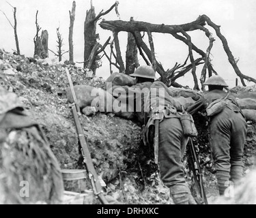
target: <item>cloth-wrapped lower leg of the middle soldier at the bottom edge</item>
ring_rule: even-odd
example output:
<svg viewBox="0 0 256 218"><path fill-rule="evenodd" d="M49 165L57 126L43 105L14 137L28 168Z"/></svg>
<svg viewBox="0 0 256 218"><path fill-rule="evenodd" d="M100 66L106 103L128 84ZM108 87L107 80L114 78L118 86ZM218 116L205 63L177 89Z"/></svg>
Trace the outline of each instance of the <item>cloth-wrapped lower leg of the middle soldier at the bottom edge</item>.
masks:
<svg viewBox="0 0 256 218"><path fill-rule="evenodd" d="M174 204L188 204L188 189L186 185L173 185L170 187L170 193Z"/></svg>

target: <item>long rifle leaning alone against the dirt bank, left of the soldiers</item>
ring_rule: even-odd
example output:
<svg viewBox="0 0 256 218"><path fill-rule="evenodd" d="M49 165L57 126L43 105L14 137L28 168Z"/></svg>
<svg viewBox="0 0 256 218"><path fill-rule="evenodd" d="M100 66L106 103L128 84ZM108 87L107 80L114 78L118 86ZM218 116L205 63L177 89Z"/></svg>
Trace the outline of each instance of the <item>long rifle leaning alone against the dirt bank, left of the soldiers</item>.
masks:
<svg viewBox="0 0 256 218"><path fill-rule="evenodd" d="M89 149L87 146L87 140L83 134L83 129L81 127L81 123L79 121L79 115L81 115L79 105L77 104L76 94L74 93L73 83L70 77L70 72L66 68L66 74L68 76L68 82L70 83L70 89L72 93L72 97L74 99L74 103L71 104L72 107L72 114L74 117L74 123L76 123L76 131L79 136L79 144L81 145L81 153L83 155L83 163L85 163L85 167L87 169L87 173L89 175L89 180L91 181L91 186L94 191L94 196L100 200L102 204L109 204L109 202L104 197L102 187L100 185L98 175L94 168L94 163L91 160L91 155L89 153Z"/></svg>

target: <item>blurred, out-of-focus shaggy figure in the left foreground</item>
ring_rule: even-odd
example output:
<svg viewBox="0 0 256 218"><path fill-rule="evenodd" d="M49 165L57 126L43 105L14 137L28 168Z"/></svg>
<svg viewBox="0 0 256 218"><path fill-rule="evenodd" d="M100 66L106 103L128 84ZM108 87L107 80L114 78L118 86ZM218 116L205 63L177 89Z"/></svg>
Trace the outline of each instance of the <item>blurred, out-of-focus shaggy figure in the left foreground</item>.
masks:
<svg viewBox="0 0 256 218"><path fill-rule="evenodd" d="M59 163L40 126L27 116L15 93L0 87L1 204L59 204Z"/></svg>

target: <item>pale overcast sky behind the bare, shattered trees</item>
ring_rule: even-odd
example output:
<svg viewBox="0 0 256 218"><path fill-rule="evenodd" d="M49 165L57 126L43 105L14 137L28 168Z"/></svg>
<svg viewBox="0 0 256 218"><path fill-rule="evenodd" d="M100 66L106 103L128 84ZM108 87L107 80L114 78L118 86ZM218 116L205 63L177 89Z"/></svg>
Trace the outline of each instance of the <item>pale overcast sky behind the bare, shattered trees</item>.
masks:
<svg viewBox="0 0 256 218"><path fill-rule="evenodd" d="M13 21L12 7L17 8L16 18L18 22L18 41L21 54L26 57L33 57L33 37L35 36L35 13L38 10L38 24L42 30L48 31L48 48L56 51L56 29L63 37L63 49L68 50L68 31L70 25L69 10L72 9L73 0L0 0L0 10L5 12L10 21ZM111 0L92 0L98 15L102 10L106 11L115 3ZM76 1L76 17L74 20L74 61L83 61L84 52L84 22L86 11L90 8L90 0ZM150 22L153 24L165 25L181 25L192 22L199 15L207 15L212 22L221 26L221 33L226 37L229 48L238 61L238 67L242 74L256 78L256 1L255 0L119 0L117 17L115 10L112 10L106 16L105 20L134 20ZM97 32L100 35L100 44L104 44L106 39L113 35L111 31L102 29L97 23ZM231 67L227 55L218 39L214 29L206 25L212 33L215 41L211 51L211 59L214 69L222 76L229 87L236 84L236 73ZM208 38L202 31L188 32L192 42L201 50L206 51L208 48ZM156 59L162 63L165 70L171 69L175 63L184 63L188 55L188 47L178 40L175 40L170 34L152 33L154 40L154 48ZM147 39L147 37L145 37ZM122 58L125 61L127 33L119 33L119 41L121 44ZM10 23L0 12L0 48L4 48L8 52L16 50L14 40L14 30ZM110 49L106 48L109 53ZM195 57L197 54L194 53ZM53 58L52 52L49 57ZM68 54L64 55L63 60L68 59ZM141 65L145 64L142 57L139 56ZM117 71L113 67L113 71ZM197 68L197 77L201 74L201 68ZM109 62L106 58L102 59L102 67L97 69L97 76L107 78L110 76ZM193 88L193 77L188 73L183 78L177 80L180 84L188 85ZM246 82L247 85L254 83ZM240 79L238 85L242 85Z"/></svg>

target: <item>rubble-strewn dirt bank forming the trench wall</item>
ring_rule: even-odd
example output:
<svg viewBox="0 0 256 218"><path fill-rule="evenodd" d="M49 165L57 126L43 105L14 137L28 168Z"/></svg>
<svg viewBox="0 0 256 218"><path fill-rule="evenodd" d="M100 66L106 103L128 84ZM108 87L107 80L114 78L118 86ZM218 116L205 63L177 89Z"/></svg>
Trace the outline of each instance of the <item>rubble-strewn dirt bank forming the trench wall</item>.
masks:
<svg viewBox="0 0 256 218"><path fill-rule="evenodd" d="M30 116L42 126L60 167L84 169L72 112L64 92L69 87L66 67L70 71L74 85L85 84L105 89L105 81L102 78L91 78L81 67L12 55L0 50L1 86L16 93ZM197 122L203 124L205 121L199 118ZM106 193L124 204L173 203L169 189L162 185L159 179L157 166L152 161L153 154L141 144L141 127L137 123L113 114L97 112L94 116L83 114L81 125L96 171L106 185ZM205 127L201 126L195 144L199 149L206 193L208 197L216 196L216 179L208 137ZM255 128L254 123L248 125L245 170L255 167ZM188 170L186 157L184 163L186 179L192 187L193 176ZM91 189L89 181L84 182L83 189ZM81 189L74 183L67 182L64 185L66 190L70 191Z"/></svg>

